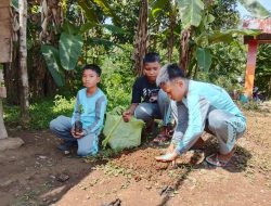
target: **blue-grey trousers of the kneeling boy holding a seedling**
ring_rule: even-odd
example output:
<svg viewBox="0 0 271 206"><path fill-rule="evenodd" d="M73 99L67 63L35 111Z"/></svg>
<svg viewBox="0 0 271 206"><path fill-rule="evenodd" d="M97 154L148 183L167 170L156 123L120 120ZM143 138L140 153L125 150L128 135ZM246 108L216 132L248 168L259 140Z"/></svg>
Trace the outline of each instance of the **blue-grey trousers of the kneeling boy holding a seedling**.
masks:
<svg viewBox="0 0 271 206"><path fill-rule="evenodd" d="M98 149L98 136L99 133L90 133L80 139L76 139L72 136L72 119L66 116L59 116L50 123L50 130L60 139L63 139L66 142L78 143L77 154L80 156L93 155L96 154Z"/></svg>

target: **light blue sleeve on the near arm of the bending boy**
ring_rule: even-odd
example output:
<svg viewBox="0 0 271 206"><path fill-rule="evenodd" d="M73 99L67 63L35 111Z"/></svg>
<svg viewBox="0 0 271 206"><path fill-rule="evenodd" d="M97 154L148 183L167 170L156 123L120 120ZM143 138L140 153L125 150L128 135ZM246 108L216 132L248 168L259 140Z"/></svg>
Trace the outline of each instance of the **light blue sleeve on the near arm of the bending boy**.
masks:
<svg viewBox="0 0 271 206"><path fill-rule="evenodd" d="M186 152L202 136L209 105L208 101L201 99L198 95L188 96L188 129L177 144L176 152L178 154Z"/></svg>

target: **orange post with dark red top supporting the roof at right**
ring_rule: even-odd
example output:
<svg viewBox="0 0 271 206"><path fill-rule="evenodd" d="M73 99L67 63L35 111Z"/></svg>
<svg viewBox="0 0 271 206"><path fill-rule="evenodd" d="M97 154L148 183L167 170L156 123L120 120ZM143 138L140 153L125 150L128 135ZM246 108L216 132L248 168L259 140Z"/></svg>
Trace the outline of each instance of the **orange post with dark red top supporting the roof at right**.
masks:
<svg viewBox="0 0 271 206"><path fill-rule="evenodd" d="M246 78L245 78L245 95L247 98L251 98L253 95L257 46L258 46L258 41L256 39L248 41Z"/></svg>

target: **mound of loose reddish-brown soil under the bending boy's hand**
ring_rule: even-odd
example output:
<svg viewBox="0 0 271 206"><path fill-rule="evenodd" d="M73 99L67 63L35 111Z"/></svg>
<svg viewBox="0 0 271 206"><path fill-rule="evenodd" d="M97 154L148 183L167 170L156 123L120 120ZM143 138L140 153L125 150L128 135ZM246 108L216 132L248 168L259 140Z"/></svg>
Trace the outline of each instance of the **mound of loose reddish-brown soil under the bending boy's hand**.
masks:
<svg viewBox="0 0 271 206"><path fill-rule="evenodd" d="M203 160L203 152L189 151L185 155L180 156L176 164L159 163L155 160L155 156L162 155L165 150L146 147L130 153L122 153L119 158L112 160L112 164L118 168L124 168L124 173L131 175L136 181L146 179L149 181L157 181L163 179L169 181L172 177L180 177L192 165L199 164Z"/></svg>

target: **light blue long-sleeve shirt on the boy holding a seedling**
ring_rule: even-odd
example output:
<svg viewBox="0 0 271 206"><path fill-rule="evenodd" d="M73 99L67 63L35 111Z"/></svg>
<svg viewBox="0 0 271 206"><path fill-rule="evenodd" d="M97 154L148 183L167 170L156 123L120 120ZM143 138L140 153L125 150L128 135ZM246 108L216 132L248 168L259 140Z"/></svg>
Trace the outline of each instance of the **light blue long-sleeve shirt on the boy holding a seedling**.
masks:
<svg viewBox="0 0 271 206"><path fill-rule="evenodd" d="M107 100L101 89L96 89L92 95L87 95L87 88L78 91L75 108L72 117L72 125L76 120L82 123L83 134L99 133L103 127L104 114Z"/></svg>

